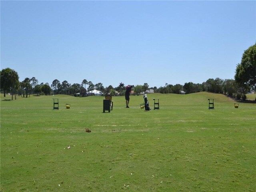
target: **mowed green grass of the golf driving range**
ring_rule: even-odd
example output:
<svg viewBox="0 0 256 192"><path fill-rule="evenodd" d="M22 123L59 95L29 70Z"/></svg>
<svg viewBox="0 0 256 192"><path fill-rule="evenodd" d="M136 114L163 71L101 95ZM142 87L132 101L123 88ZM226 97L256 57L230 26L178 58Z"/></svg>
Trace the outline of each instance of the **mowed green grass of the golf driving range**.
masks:
<svg viewBox="0 0 256 192"><path fill-rule="evenodd" d="M103 113L102 96L10 98L1 94L1 192L256 190L256 104L148 94L148 112L142 96L130 96L129 109L116 96Z"/></svg>

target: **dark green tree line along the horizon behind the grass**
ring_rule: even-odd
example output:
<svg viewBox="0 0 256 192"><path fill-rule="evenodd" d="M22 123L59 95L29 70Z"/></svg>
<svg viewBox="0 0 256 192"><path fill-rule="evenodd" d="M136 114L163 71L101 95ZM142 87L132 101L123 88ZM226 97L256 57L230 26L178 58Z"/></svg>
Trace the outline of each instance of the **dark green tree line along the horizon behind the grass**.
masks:
<svg viewBox="0 0 256 192"><path fill-rule="evenodd" d="M132 86L134 87L135 95L140 95L150 89L154 90L155 93L163 94L180 94L181 92L190 94L206 91L226 94L230 97L246 100L246 94L251 90L256 90L256 44L244 51L241 63L236 66L236 74L234 77L234 80L210 78L202 84L186 82L184 85L172 85L166 83L165 86L160 86L159 88L156 86L149 87L147 83ZM102 92L104 95L111 94L114 96L118 94L122 96L125 94L125 86L122 82L116 88L111 85L104 87L102 83L93 84L86 79L82 80L80 84L75 83L72 85L66 80L60 83L57 79L53 80L51 85L48 83L38 84L38 80L35 77L25 78L23 81L19 82L18 73L10 68L5 68L0 71L0 88L4 93L4 97L6 96L6 93L12 94L12 100L13 96L16 99L16 95L28 97L30 94L67 94L76 96L77 93L79 93L80 96L87 96L87 92L92 92L94 89Z"/></svg>

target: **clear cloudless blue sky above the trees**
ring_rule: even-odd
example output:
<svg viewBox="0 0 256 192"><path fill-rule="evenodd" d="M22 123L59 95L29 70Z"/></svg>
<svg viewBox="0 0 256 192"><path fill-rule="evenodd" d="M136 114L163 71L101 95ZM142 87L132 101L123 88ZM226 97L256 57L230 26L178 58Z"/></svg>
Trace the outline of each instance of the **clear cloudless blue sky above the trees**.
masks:
<svg viewBox="0 0 256 192"><path fill-rule="evenodd" d="M234 79L256 1L3 1L1 70L23 81L150 87Z"/></svg>

